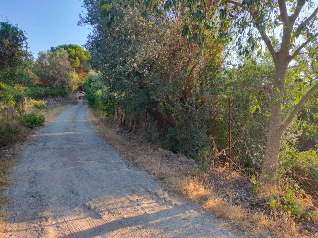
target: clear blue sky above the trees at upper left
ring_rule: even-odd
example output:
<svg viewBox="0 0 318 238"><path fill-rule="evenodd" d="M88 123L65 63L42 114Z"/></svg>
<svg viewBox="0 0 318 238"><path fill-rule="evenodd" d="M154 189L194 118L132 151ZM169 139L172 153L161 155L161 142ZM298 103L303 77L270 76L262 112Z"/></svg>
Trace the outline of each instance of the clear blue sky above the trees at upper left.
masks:
<svg viewBox="0 0 318 238"><path fill-rule="evenodd" d="M39 51L60 44L83 45L90 30L78 26L84 10L80 0L0 0L0 21L18 24L28 38L29 50Z"/></svg>

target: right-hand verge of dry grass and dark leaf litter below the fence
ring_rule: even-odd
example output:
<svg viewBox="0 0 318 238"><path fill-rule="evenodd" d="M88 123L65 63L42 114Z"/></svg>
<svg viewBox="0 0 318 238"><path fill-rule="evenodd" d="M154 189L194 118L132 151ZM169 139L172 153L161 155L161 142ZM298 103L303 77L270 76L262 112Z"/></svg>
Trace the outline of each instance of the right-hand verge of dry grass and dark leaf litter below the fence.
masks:
<svg viewBox="0 0 318 238"><path fill-rule="evenodd" d="M311 230L315 221L299 223L283 209L271 209L262 203L264 199L256 198L256 193L250 188L252 183L247 183L239 174L228 174L224 167L214 168L213 173L202 172L194 161L159 145L149 144L129 131L118 129L92 108L88 110L88 117L95 130L114 147L127 166L136 165L146 170L167 190L200 204L223 219L221 225L234 235L242 238L315 237L315 229ZM246 193L246 196L254 196L255 200L251 199L251 204L244 200L235 203L238 190L241 190L239 195Z"/></svg>

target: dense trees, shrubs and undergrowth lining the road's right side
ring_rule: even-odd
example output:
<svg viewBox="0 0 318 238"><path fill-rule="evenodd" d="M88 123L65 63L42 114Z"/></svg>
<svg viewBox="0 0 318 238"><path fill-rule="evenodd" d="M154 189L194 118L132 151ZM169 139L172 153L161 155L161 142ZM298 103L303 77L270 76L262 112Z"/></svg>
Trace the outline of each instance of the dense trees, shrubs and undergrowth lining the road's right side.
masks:
<svg viewBox="0 0 318 238"><path fill-rule="evenodd" d="M89 104L141 141L197 162L174 176L134 150L139 166L255 232L247 237L318 235L314 1L83 3Z"/></svg>

